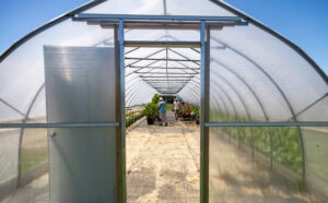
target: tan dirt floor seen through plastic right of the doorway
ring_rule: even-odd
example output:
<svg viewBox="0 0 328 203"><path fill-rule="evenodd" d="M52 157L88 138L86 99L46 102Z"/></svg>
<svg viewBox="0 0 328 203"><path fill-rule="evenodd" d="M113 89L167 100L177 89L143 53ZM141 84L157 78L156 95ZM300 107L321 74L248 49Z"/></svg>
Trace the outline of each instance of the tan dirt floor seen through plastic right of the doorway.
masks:
<svg viewBox="0 0 328 203"><path fill-rule="evenodd" d="M220 131L210 134L210 202L323 202L253 162Z"/></svg>

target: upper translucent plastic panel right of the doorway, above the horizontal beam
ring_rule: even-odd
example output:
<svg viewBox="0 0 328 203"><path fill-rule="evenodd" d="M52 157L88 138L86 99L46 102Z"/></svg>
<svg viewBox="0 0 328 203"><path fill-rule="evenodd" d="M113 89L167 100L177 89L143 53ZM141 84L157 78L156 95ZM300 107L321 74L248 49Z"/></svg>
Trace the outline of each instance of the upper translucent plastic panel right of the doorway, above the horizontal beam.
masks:
<svg viewBox="0 0 328 203"><path fill-rule="evenodd" d="M269 121L291 121L327 94L326 82L306 60L278 38L251 24L212 31L210 41L211 95L219 91L216 86L222 87L215 84L216 80L231 83L245 103L261 103L260 110L259 104L247 105L250 116L256 120L266 120L265 112L260 112L266 111ZM232 97L234 91L225 91ZM238 99L231 99L230 103L241 117L246 117L245 109L241 110L243 108L237 104ZM323 99L314 104L318 105L321 112L311 116L308 111L307 119L303 117L302 120L326 121L328 104ZM311 108L316 108L314 106ZM232 114L231 109L229 112Z"/></svg>

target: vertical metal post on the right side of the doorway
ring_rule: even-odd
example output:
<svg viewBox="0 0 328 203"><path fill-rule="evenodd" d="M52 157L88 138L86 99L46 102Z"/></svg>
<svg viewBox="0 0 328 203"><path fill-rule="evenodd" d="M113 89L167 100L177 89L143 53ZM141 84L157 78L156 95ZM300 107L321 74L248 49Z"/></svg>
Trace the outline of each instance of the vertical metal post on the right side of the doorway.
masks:
<svg viewBox="0 0 328 203"><path fill-rule="evenodd" d="M206 94L209 88L209 74L207 74L207 46L206 46L206 22L201 21L201 67L200 67L200 202L209 202L209 129L204 127L208 117L209 105Z"/></svg>

